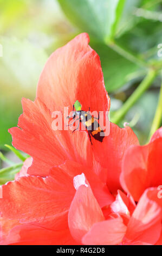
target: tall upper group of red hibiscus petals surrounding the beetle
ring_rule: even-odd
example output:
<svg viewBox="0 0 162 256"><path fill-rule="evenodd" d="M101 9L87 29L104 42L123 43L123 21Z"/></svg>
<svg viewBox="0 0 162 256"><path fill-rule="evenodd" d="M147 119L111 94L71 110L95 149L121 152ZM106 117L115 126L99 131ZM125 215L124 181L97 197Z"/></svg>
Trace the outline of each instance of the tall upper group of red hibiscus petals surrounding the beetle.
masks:
<svg viewBox="0 0 162 256"><path fill-rule="evenodd" d="M47 176L53 166L66 160L90 168L106 168L107 184L112 192L120 188L121 160L129 145L139 144L130 127L110 124L110 134L103 142L87 132L51 129L52 113L64 107L72 111L78 100L84 111L107 112L110 100L105 90L98 54L88 45L86 33L76 36L48 59L37 86L36 100L23 99L23 114L18 127L9 130L15 148L33 157L28 174ZM96 167L98 166L98 167ZM96 170L96 172L100 172Z"/></svg>

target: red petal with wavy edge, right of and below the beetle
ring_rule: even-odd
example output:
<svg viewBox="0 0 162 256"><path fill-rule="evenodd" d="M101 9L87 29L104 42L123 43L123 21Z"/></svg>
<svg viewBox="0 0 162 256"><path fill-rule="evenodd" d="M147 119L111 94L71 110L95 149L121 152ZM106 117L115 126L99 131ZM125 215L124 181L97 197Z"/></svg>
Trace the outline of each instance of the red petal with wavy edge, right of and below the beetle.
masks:
<svg viewBox="0 0 162 256"><path fill-rule="evenodd" d="M110 123L110 134L103 138L102 142L93 139L93 151L96 160L101 166L107 168L107 185L111 192L121 188L119 176L121 173L121 161L125 151L132 144L139 144L137 136L130 127L120 128Z"/></svg>

